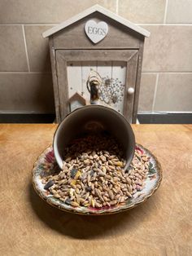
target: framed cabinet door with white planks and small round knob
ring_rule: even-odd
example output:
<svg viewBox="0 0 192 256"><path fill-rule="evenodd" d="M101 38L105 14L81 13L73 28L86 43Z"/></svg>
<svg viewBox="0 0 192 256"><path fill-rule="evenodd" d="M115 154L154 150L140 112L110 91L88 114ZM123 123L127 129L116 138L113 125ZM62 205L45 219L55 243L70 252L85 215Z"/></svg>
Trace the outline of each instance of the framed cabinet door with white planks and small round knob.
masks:
<svg viewBox="0 0 192 256"><path fill-rule="evenodd" d="M81 97L89 102L87 79L90 71L94 70L102 79L98 89L99 103L116 109L132 122L137 55L137 50L57 50L61 120L81 106ZM76 97L76 102L69 103L73 95L80 95L80 102Z"/></svg>

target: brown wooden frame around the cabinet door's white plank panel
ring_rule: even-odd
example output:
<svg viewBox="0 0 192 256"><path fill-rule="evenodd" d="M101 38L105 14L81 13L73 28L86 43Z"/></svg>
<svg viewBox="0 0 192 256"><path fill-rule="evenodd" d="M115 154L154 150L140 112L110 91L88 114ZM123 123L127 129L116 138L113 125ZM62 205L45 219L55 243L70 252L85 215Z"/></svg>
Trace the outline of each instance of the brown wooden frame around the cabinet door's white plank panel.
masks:
<svg viewBox="0 0 192 256"><path fill-rule="evenodd" d="M58 90L59 90L59 99L62 100L59 102L60 106L60 119L68 115L68 74L67 74L67 62L68 61L107 61L107 60L120 60L127 63L127 73L126 73L126 84L125 84L125 94L129 86L135 88L136 86L136 77L137 77L137 50L113 50L113 51L69 51L69 50L58 50L56 51L56 68L58 76ZM128 100L124 100L124 117L126 117L130 122L132 122L132 113L134 108L134 97L127 96Z"/></svg>

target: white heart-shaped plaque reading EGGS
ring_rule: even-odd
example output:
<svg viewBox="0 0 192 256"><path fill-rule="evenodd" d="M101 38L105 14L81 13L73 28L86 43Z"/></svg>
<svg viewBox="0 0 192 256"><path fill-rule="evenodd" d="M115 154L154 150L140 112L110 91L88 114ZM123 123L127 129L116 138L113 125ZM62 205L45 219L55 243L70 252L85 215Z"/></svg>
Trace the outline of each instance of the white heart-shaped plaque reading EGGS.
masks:
<svg viewBox="0 0 192 256"><path fill-rule="evenodd" d="M108 30L108 25L104 21L97 23L94 20L88 20L85 24L85 33L94 43L102 41L107 36Z"/></svg>

